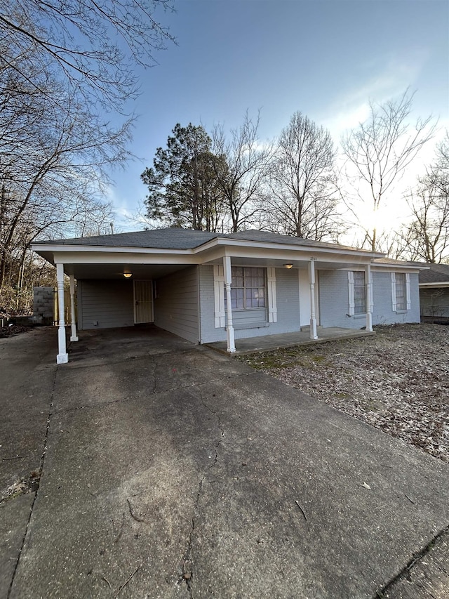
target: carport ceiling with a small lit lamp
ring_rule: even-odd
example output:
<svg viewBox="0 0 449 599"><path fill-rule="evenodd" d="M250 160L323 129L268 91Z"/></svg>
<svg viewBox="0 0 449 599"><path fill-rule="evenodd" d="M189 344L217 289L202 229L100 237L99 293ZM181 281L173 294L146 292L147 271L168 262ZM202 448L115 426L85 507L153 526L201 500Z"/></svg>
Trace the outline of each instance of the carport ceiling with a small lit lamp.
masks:
<svg viewBox="0 0 449 599"><path fill-rule="evenodd" d="M75 279L123 279L130 272L133 279L159 279L187 268L185 264L65 264L64 272Z"/></svg>

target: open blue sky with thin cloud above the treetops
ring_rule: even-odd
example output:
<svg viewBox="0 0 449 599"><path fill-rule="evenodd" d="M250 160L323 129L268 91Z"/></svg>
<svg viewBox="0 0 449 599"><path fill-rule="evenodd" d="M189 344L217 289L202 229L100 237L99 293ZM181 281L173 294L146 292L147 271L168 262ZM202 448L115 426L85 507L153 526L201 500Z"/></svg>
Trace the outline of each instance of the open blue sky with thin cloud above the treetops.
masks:
<svg viewBox="0 0 449 599"><path fill-rule="evenodd" d="M261 110L260 136L274 138L300 110L337 143L382 103L416 91L415 117L449 125L447 0L177 0L160 15L177 38L141 72L131 149L142 159L113 173L116 226L145 198L152 166L177 122L239 126ZM431 148L429 148L429 157Z"/></svg>

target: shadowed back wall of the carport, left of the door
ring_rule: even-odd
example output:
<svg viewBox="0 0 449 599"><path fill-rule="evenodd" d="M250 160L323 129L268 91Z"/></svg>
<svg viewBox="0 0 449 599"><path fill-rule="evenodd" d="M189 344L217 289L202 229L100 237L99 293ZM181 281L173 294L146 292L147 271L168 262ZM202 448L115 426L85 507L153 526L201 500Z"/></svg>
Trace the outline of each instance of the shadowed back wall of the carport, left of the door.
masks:
<svg viewBox="0 0 449 599"><path fill-rule="evenodd" d="M133 327L132 280L79 280L77 294L79 329Z"/></svg>

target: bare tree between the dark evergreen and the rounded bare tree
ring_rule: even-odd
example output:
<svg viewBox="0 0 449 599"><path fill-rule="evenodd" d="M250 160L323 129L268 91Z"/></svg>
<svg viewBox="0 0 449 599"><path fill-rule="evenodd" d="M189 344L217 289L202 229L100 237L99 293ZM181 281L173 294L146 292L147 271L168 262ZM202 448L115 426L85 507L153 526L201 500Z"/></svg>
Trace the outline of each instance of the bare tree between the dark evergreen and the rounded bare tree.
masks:
<svg viewBox="0 0 449 599"><path fill-rule="evenodd" d="M259 123L260 112L255 121L246 112L241 126L231 130L229 140L222 125L216 125L212 132L215 175L225 195L232 232L245 228L266 199L273 148L260 143Z"/></svg>

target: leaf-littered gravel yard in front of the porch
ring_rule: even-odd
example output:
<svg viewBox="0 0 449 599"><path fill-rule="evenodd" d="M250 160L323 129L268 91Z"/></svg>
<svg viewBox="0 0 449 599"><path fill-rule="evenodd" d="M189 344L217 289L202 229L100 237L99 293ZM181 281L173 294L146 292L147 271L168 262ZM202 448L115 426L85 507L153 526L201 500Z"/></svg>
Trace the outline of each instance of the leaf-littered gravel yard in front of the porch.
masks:
<svg viewBox="0 0 449 599"><path fill-rule="evenodd" d="M239 360L448 462L449 327L374 328Z"/></svg>

